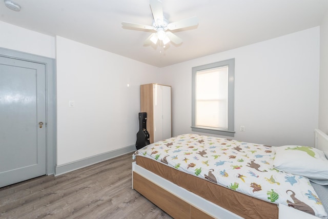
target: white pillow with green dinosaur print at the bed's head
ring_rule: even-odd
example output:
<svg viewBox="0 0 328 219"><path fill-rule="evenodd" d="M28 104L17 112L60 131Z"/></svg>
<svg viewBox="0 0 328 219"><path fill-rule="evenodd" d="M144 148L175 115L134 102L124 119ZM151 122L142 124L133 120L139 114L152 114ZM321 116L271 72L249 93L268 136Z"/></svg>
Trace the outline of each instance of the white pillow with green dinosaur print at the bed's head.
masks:
<svg viewBox="0 0 328 219"><path fill-rule="evenodd" d="M313 147L285 145L273 148L274 168L316 180L328 180L328 160L323 151Z"/></svg>

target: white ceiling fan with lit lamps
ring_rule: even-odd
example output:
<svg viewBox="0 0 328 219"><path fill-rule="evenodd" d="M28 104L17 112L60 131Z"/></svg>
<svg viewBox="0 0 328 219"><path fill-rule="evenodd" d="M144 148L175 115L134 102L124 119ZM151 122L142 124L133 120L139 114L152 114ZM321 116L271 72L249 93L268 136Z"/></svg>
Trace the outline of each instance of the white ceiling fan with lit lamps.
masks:
<svg viewBox="0 0 328 219"><path fill-rule="evenodd" d="M177 22L169 23L163 16L162 3L159 0L150 0L150 8L154 18L152 26L122 22L123 27L155 31L146 39L144 45L149 45L151 43L157 44L158 39L163 43L163 45L166 45L170 41L176 45L181 44L182 39L168 30L177 30L196 26L198 24L197 17L190 17Z"/></svg>

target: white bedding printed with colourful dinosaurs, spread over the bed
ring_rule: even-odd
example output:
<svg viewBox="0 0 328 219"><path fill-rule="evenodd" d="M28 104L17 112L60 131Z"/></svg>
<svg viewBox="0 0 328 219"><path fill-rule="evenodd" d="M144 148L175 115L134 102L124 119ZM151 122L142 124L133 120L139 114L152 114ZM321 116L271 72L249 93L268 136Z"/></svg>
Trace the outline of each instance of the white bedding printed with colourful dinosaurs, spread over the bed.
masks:
<svg viewBox="0 0 328 219"><path fill-rule="evenodd" d="M308 178L273 167L270 146L184 134L147 145L136 155L260 200L328 218Z"/></svg>

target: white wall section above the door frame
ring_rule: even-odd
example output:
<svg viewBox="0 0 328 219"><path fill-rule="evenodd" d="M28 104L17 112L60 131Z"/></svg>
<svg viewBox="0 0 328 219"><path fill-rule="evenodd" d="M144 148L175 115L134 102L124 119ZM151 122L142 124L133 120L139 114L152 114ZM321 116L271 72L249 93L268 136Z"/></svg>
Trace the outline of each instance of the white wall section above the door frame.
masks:
<svg viewBox="0 0 328 219"><path fill-rule="evenodd" d="M55 58L55 37L0 21L0 47Z"/></svg>

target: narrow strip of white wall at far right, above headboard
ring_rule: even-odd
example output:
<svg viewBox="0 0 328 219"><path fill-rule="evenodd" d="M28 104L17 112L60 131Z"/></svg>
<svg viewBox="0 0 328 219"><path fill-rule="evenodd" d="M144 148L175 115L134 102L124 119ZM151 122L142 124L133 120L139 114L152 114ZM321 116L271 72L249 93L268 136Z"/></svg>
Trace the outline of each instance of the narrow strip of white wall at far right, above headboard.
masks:
<svg viewBox="0 0 328 219"><path fill-rule="evenodd" d="M328 12L320 25L319 129L328 134Z"/></svg>

